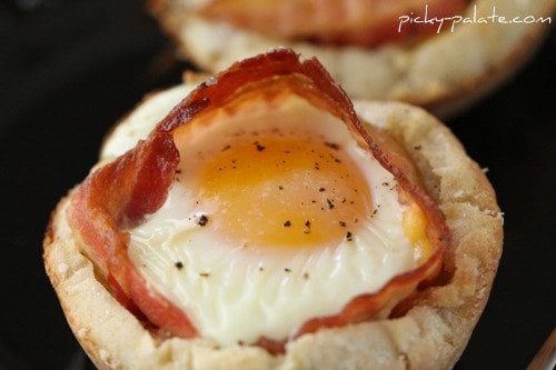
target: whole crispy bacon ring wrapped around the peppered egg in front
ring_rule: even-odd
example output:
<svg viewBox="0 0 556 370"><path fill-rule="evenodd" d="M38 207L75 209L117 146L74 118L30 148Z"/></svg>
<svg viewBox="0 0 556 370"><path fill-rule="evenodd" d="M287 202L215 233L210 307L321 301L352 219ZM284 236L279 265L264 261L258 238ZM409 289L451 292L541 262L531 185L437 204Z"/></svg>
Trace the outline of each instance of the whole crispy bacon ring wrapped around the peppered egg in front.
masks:
<svg viewBox="0 0 556 370"><path fill-rule="evenodd" d="M195 337L187 313L153 291L128 256L127 230L157 211L167 198L180 161L175 139L183 124L221 107L234 107L251 93L276 94L286 89L340 118L361 146L398 180L400 193L425 212L427 233L436 249L417 269L394 278L379 292L354 298L336 316L306 322L296 337L324 327L337 327L373 318L390 298L410 292L434 277L440 266L448 230L444 217L427 194L409 180L390 154L359 121L351 102L316 60L299 61L290 50L275 50L237 62L215 79L199 86L158 123L147 140L113 162L95 171L72 197L70 222L80 234L85 251L107 279L115 297L131 312L140 311L152 324L173 336ZM286 340L286 339L285 339ZM284 351L285 341L261 338L272 353Z"/></svg>

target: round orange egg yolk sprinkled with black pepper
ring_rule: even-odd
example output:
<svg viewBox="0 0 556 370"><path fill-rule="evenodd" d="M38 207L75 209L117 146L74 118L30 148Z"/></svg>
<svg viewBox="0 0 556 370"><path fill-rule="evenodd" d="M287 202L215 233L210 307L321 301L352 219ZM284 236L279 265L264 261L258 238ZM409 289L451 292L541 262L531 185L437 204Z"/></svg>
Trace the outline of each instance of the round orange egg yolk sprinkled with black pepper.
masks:
<svg viewBox="0 0 556 370"><path fill-rule="evenodd" d="M249 136L209 157L198 199L216 208L211 227L244 247L336 246L371 209L361 170L324 139Z"/></svg>

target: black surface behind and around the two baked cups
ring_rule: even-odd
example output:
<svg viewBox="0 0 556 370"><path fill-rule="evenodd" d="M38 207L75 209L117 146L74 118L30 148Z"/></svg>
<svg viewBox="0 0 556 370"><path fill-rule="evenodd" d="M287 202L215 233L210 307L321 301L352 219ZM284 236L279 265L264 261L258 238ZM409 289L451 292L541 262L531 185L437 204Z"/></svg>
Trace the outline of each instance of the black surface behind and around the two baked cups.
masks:
<svg viewBox="0 0 556 370"><path fill-rule="evenodd" d="M459 370L524 369L555 326L555 33L512 82L447 121L506 214L492 298ZM49 213L109 127L185 68L140 1L0 2L0 369L90 368L44 273Z"/></svg>

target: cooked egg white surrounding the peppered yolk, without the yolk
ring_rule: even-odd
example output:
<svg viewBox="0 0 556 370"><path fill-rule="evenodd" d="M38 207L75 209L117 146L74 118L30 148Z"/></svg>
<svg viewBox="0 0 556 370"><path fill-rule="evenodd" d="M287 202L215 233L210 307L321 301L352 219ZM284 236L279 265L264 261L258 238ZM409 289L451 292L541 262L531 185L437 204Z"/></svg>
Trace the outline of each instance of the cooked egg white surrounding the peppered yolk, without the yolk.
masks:
<svg viewBox="0 0 556 370"><path fill-rule="evenodd" d="M130 230L129 254L150 287L185 310L200 336L221 346L251 343L261 337L282 340L307 320L334 316L355 297L377 292L391 278L416 268L415 248L401 223L406 208L398 201L396 180L338 118L297 96L272 104L250 102L217 116L212 119L217 124L190 124L180 133L181 160L191 160L200 148L221 148L222 138L238 132L264 132L261 124L304 134L309 130L339 143L354 159L377 212L360 220L363 226L351 240L335 246L245 248L210 228L214 209L195 199L196 163L191 161L191 173L176 181L165 204ZM119 134L115 132L113 140ZM205 226L203 214L209 216Z"/></svg>

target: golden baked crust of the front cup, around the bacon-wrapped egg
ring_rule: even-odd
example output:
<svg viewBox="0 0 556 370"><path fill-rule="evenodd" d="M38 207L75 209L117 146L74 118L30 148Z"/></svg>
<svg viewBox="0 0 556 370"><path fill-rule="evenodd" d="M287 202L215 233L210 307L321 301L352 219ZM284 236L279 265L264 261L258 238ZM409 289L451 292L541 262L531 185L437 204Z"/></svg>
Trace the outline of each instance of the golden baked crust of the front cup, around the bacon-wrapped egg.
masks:
<svg viewBox="0 0 556 370"><path fill-rule="evenodd" d="M192 86L151 94L107 138L100 163L135 146ZM418 294L397 319L321 329L272 357L258 347L218 348L206 339L161 338L145 329L105 288L68 224L71 193L44 238L47 273L66 318L100 369L450 369L487 302L503 243L503 219L490 183L434 117L404 103L356 101L361 120L387 129L419 169L446 216L453 239L446 283Z"/></svg>

